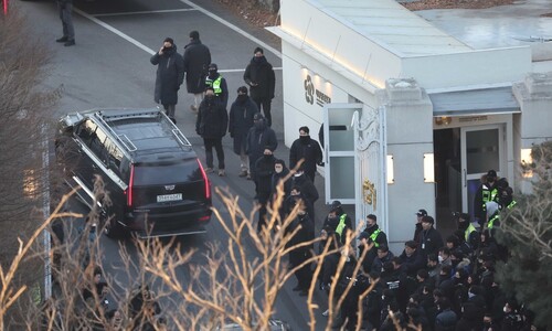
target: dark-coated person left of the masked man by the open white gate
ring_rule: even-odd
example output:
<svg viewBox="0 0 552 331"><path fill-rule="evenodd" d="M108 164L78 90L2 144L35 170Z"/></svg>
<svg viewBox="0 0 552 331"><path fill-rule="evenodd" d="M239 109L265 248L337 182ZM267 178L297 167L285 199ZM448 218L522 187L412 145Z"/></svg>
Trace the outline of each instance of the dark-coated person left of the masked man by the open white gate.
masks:
<svg viewBox="0 0 552 331"><path fill-rule="evenodd" d="M255 178L255 162L263 157L265 149L274 152L277 147L276 132L266 125L263 114L256 113L253 116L253 127L245 138L245 152L250 159L248 180Z"/></svg>

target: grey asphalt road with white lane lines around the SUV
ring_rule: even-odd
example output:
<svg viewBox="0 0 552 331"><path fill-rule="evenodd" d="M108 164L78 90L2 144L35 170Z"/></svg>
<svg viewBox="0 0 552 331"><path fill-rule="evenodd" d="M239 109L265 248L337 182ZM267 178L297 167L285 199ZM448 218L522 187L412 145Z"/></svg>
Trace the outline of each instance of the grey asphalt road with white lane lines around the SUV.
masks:
<svg viewBox="0 0 552 331"><path fill-rule="evenodd" d="M231 92L231 100L235 90L243 85L243 70L257 45L265 49L267 60L280 67L282 61L276 51L279 43L263 30L251 29L224 12L216 3L198 1L201 7L188 0L120 0L120 1L75 1L74 15L76 30L76 46L64 47L55 43L61 36L61 22L57 19L56 7L52 1L14 2L30 19L36 34L41 36L54 54L52 75L46 81L47 87L63 87L63 98L57 114L62 115L78 109L95 107L150 107L153 103L153 82L156 66L149 63L149 57L157 51L166 36L172 36L182 52L191 30L200 31L201 39L210 49L213 62L226 77ZM229 23L232 22L232 23ZM240 26L241 28L237 28ZM247 32L246 32L247 31ZM258 39L258 40L255 40ZM262 42L261 42L262 41ZM274 51L270 51L274 50ZM277 88L274 108L274 129L280 140L276 151L277 157L287 159L283 139L282 111L282 71L276 71ZM195 150L203 159L204 151L200 148L200 138L194 132L194 116L189 110L192 97L181 88L177 105L178 126L197 146ZM237 177L238 159L232 152L232 141L224 139L226 153L225 178L213 177L214 186L229 188L241 197L245 211L252 209L254 186L251 181ZM318 185L320 185L319 180ZM320 193L323 193L320 188ZM323 199L319 202L322 205ZM221 207L219 199L215 207ZM73 204L75 209L82 209ZM224 214L223 214L224 215ZM227 214L225 215L227 216ZM181 237L182 250L192 247L199 253L192 263L204 263L206 243L225 243L222 227L216 221L208 226L208 233L198 236ZM115 275L121 284L134 284L118 271L121 261L117 243L104 239L107 274ZM129 245L127 245L129 248ZM136 254L130 249L131 254ZM179 279L185 282L189 278L188 268L179 269ZM308 330L305 299L290 290L295 280L287 284L280 292L274 317L288 321L294 330ZM325 298L317 293L317 299L325 305ZM318 313L319 316L319 313ZM325 318L319 316L318 329L323 328Z"/></svg>

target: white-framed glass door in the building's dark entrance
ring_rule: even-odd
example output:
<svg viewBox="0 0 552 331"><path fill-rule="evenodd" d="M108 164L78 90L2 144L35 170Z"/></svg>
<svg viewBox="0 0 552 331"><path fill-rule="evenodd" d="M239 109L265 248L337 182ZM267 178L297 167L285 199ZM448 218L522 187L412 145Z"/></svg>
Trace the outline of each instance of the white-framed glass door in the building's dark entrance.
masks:
<svg viewBox="0 0 552 331"><path fill-rule="evenodd" d="M496 170L500 175L503 164L502 125L461 128L463 211L474 215L474 196L481 184L481 175Z"/></svg>

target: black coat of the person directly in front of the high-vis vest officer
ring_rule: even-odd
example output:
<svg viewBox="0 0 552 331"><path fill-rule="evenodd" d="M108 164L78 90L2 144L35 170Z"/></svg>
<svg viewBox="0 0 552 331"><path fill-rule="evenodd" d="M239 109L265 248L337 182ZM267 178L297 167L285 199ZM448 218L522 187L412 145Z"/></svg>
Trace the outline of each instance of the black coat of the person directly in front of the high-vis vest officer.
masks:
<svg viewBox="0 0 552 331"><path fill-rule="evenodd" d="M222 138L226 135L229 115L215 99L204 98L200 104L195 120L195 132L202 138Z"/></svg>

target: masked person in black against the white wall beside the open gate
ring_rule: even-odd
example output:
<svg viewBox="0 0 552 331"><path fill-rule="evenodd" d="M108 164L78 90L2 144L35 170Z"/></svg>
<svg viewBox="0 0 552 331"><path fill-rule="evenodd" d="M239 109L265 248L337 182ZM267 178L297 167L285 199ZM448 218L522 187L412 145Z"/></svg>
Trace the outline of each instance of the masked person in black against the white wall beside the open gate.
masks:
<svg viewBox="0 0 552 331"><path fill-rule="evenodd" d="M308 127L300 127L299 138L291 143L289 168L295 169L301 160L305 173L315 182L316 166L322 163L322 149L318 141L310 138Z"/></svg>

